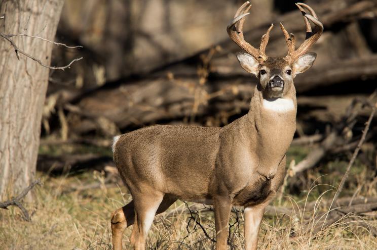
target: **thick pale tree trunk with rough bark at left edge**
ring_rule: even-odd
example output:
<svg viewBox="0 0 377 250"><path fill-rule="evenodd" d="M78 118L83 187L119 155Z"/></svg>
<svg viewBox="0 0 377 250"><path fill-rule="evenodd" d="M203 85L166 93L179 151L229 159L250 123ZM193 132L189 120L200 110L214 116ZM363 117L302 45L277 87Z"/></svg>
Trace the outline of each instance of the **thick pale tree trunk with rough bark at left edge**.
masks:
<svg viewBox="0 0 377 250"><path fill-rule="evenodd" d="M54 40L63 0L0 1L0 32ZM14 36L15 44L50 65L52 44ZM35 175L49 69L19 55L0 38L0 200L19 193ZM28 197L30 199L30 196Z"/></svg>

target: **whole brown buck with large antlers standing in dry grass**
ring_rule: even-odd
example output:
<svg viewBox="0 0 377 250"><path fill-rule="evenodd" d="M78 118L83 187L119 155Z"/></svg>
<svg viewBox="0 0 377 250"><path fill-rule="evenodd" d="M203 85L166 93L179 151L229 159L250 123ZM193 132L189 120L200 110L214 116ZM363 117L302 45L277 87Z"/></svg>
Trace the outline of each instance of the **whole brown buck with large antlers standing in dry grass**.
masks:
<svg viewBox="0 0 377 250"><path fill-rule="evenodd" d="M249 2L227 28L245 51L237 54L241 66L259 79L248 114L221 128L155 125L115 137L114 161L133 198L111 213L115 250L122 249L122 234L132 224L131 245L145 249L155 215L177 199L213 205L216 249L228 248L231 207L244 206L245 249L257 248L263 213L283 179L285 155L296 129L293 78L312 66L316 54L306 53L323 31L312 8L296 5L303 13L307 38L295 50L293 34L280 24L288 44L284 58L265 53L273 25L259 49L244 40ZM309 20L315 24L313 31Z"/></svg>

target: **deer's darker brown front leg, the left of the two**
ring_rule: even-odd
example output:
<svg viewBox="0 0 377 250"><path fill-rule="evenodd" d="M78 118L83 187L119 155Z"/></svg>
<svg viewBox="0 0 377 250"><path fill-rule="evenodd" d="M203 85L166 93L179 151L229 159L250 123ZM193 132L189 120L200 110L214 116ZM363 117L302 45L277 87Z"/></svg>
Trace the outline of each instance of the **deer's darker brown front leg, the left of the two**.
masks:
<svg viewBox="0 0 377 250"><path fill-rule="evenodd" d="M229 197L215 197L215 227L216 227L216 250L228 249L228 225L232 209L232 201Z"/></svg>

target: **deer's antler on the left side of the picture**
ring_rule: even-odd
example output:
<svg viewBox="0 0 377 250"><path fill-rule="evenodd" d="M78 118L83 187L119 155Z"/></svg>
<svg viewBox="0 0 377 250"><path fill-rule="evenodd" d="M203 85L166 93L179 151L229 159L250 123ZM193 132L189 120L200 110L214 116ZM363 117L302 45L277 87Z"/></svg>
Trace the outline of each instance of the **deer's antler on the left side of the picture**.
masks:
<svg viewBox="0 0 377 250"><path fill-rule="evenodd" d="M266 56L266 46L267 46L267 43L269 42L270 31L274 27L274 25L271 24L266 34L262 36L260 40L259 49L254 48L250 43L244 40L244 35L242 31L245 17L250 14L250 13L247 13L250 10L250 8L251 8L251 4L249 1L247 1L237 10L236 15L234 16L234 19L230 22L230 24L227 27L227 32L229 36L231 37L231 39L235 43L237 43L238 46L240 46L242 49L244 49L244 51L246 51L248 54L253 56L260 63L262 63L266 61L268 58Z"/></svg>

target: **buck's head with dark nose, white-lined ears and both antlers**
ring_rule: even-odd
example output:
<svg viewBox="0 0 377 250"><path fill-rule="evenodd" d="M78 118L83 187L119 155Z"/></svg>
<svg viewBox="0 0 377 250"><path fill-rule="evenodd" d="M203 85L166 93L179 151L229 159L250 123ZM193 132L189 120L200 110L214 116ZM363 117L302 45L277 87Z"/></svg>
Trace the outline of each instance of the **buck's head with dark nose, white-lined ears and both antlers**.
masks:
<svg viewBox="0 0 377 250"><path fill-rule="evenodd" d="M250 14L247 13L251 8L250 2L246 2L237 10L234 19L227 27L231 39L245 51L237 53L237 58L242 68L254 74L259 79L257 87L262 91L264 98L284 97L292 89L294 77L308 70L316 59L317 55L315 53L307 52L321 36L323 25L310 6L303 3L297 3L296 6L303 13L307 37L295 49L296 41L294 35L288 34L283 24L280 23L288 45L288 54L284 58L268 57L266 55L266 46L270 38L270 31L274 27L273 24L271 24L266 34L262 36L259 49L244 40L242 29L245 17ZM304 8L310 14L307 14ZM313 30L309 20L315 24Z"/></svg>

